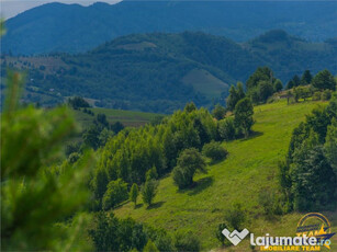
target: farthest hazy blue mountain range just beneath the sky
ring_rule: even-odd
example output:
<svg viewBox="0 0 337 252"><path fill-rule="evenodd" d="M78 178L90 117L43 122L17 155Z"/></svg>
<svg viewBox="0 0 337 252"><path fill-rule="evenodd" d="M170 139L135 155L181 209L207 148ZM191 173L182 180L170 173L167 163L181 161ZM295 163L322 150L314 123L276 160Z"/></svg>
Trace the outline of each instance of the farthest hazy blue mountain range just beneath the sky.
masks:
<svg viewBox="0 0 337 252"><path fill-rule="evenodd" d="M244 42L282 28L310 41L337 36L336 1L122 1L48 3L7 21L2 53L89 50L121 35L201 31Z"/></svg>

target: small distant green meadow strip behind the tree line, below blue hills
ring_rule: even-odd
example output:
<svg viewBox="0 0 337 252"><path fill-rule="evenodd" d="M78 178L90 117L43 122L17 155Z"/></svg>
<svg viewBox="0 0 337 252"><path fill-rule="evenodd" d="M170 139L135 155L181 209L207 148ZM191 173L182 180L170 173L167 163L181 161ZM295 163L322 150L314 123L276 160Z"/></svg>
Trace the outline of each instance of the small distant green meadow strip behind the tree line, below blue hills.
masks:
<svg viewBox="0 0 337 252"><path fill-rule="evenodd" d="M149 123L156 116L160 114L154 113L144 113L135 111L122 111L122 110L112 110L112 108L101 108L93 107L89 108L94 113L94 116L89 115L82 111L74 111L76 121L79 122L82 127L88 127L92 125L92 121L96 118L97 114L105 114L109 123L121 122L124 126L142 126Z"/></svg>

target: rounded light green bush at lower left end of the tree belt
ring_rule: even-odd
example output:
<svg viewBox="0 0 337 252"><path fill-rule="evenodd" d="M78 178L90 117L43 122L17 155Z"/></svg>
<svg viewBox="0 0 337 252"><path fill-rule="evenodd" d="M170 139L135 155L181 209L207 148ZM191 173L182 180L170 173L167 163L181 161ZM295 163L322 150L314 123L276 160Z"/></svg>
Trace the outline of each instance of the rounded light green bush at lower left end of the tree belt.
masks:
<svg viewBox="0 0 337 252"><path fill-rule="evenodd" d="M127 197L127 184L121 179L111 181L108 184L106 192L103 196L103 209L108 210L112 207L115 207L120 203L126 201Z"/></svg>

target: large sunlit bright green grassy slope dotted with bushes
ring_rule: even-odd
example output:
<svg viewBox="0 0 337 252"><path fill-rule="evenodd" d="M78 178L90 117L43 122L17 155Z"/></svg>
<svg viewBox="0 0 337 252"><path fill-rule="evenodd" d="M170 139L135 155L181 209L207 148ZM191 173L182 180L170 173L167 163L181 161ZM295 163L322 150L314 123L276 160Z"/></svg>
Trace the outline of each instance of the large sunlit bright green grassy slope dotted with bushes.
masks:
<svg viewBox="0 0 337 252"><path fill-rule="evenodd" d="M224 142L228 158L209 165L207 174L194 179L196 186L178 191L171 175L160 180L154 206L147 209L139 198L139 205L126 203L114 213L117 217L132 217L169 232L177 229L192 230L203 250L220 250L214 232L226 211L234 203L241 203L248 213L245 227L255 234L294 236L297 221L304 214L294 213L273 220L267 220L258 204L261 190L278 185L278 162L285 156L292 130L321 102L305 102L287 105L285 101L255 107L255 134L249 139ZM337 227L336 213L325 214L333 227ZM334 231L337 231L334 228ZM337 236L334 237L337 251ZM231 251L250 251L245 239Z"/></svg>

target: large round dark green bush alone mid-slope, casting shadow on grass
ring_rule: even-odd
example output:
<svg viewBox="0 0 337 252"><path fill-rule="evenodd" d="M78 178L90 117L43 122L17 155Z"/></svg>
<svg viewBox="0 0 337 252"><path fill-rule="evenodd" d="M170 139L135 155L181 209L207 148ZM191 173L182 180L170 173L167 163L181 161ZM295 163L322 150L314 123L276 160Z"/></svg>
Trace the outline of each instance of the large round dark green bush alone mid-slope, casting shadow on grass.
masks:
<svg viewBox="0 0 337 252"><path fill-rule="evenodd" d="M193 184L195 172L204 170L205 162L195 148L183 150L179 158L177 167L173 169L173 181L179 188L186 188Z"/></svg>

